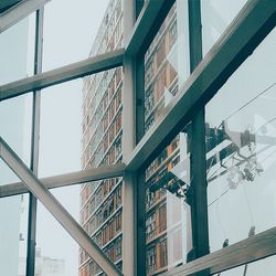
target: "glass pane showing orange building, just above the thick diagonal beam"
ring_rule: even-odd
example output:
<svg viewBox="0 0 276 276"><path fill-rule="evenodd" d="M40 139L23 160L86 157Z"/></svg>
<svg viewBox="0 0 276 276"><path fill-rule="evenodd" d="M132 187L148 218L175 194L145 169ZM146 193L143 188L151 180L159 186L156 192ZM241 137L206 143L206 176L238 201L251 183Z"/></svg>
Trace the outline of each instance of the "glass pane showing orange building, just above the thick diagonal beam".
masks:
<svg viewBox="0 0 276 276"><path fill-rule="evenodd" d="M164 108L190 74L187 1L178 0L145 55L145 130L162 117Z"/></svg>

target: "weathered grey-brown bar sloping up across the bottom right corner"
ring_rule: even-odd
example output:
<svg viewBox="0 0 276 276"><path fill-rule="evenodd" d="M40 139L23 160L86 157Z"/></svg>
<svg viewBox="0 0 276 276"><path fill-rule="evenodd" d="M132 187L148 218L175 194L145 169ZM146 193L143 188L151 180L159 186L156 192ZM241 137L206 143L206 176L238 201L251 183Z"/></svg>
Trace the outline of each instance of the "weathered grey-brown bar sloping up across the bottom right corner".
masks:
<svg viewBox="0 0 276 276"><path fill-rule="evenodd" d="M185 276L203 270L216 274L276 254L276 227L166 272L162 276Z"/></svg>

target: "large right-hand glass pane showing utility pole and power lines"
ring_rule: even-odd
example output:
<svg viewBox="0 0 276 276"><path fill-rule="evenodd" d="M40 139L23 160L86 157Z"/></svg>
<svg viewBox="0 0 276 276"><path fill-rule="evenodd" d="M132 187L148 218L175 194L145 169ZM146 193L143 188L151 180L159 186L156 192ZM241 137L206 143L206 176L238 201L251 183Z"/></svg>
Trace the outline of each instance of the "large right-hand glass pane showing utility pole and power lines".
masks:
<svg viewBox="0 0 276 276"><path fill-rule="evenodd" d="M206 106L212 252L275 226L275 35L273 31Z"/></svg>

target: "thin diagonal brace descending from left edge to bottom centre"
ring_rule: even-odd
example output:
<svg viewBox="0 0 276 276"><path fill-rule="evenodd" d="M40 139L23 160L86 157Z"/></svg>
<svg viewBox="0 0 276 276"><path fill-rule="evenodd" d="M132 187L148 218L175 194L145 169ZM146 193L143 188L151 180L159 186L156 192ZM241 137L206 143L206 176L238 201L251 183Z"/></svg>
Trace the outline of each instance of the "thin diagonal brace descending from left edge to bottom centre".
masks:
<svg viewBox="0 0 276 276"><path fill-rule="evenodd" d="M0 157L107 275L123 275L85 230L0 137Z"/></svg>

